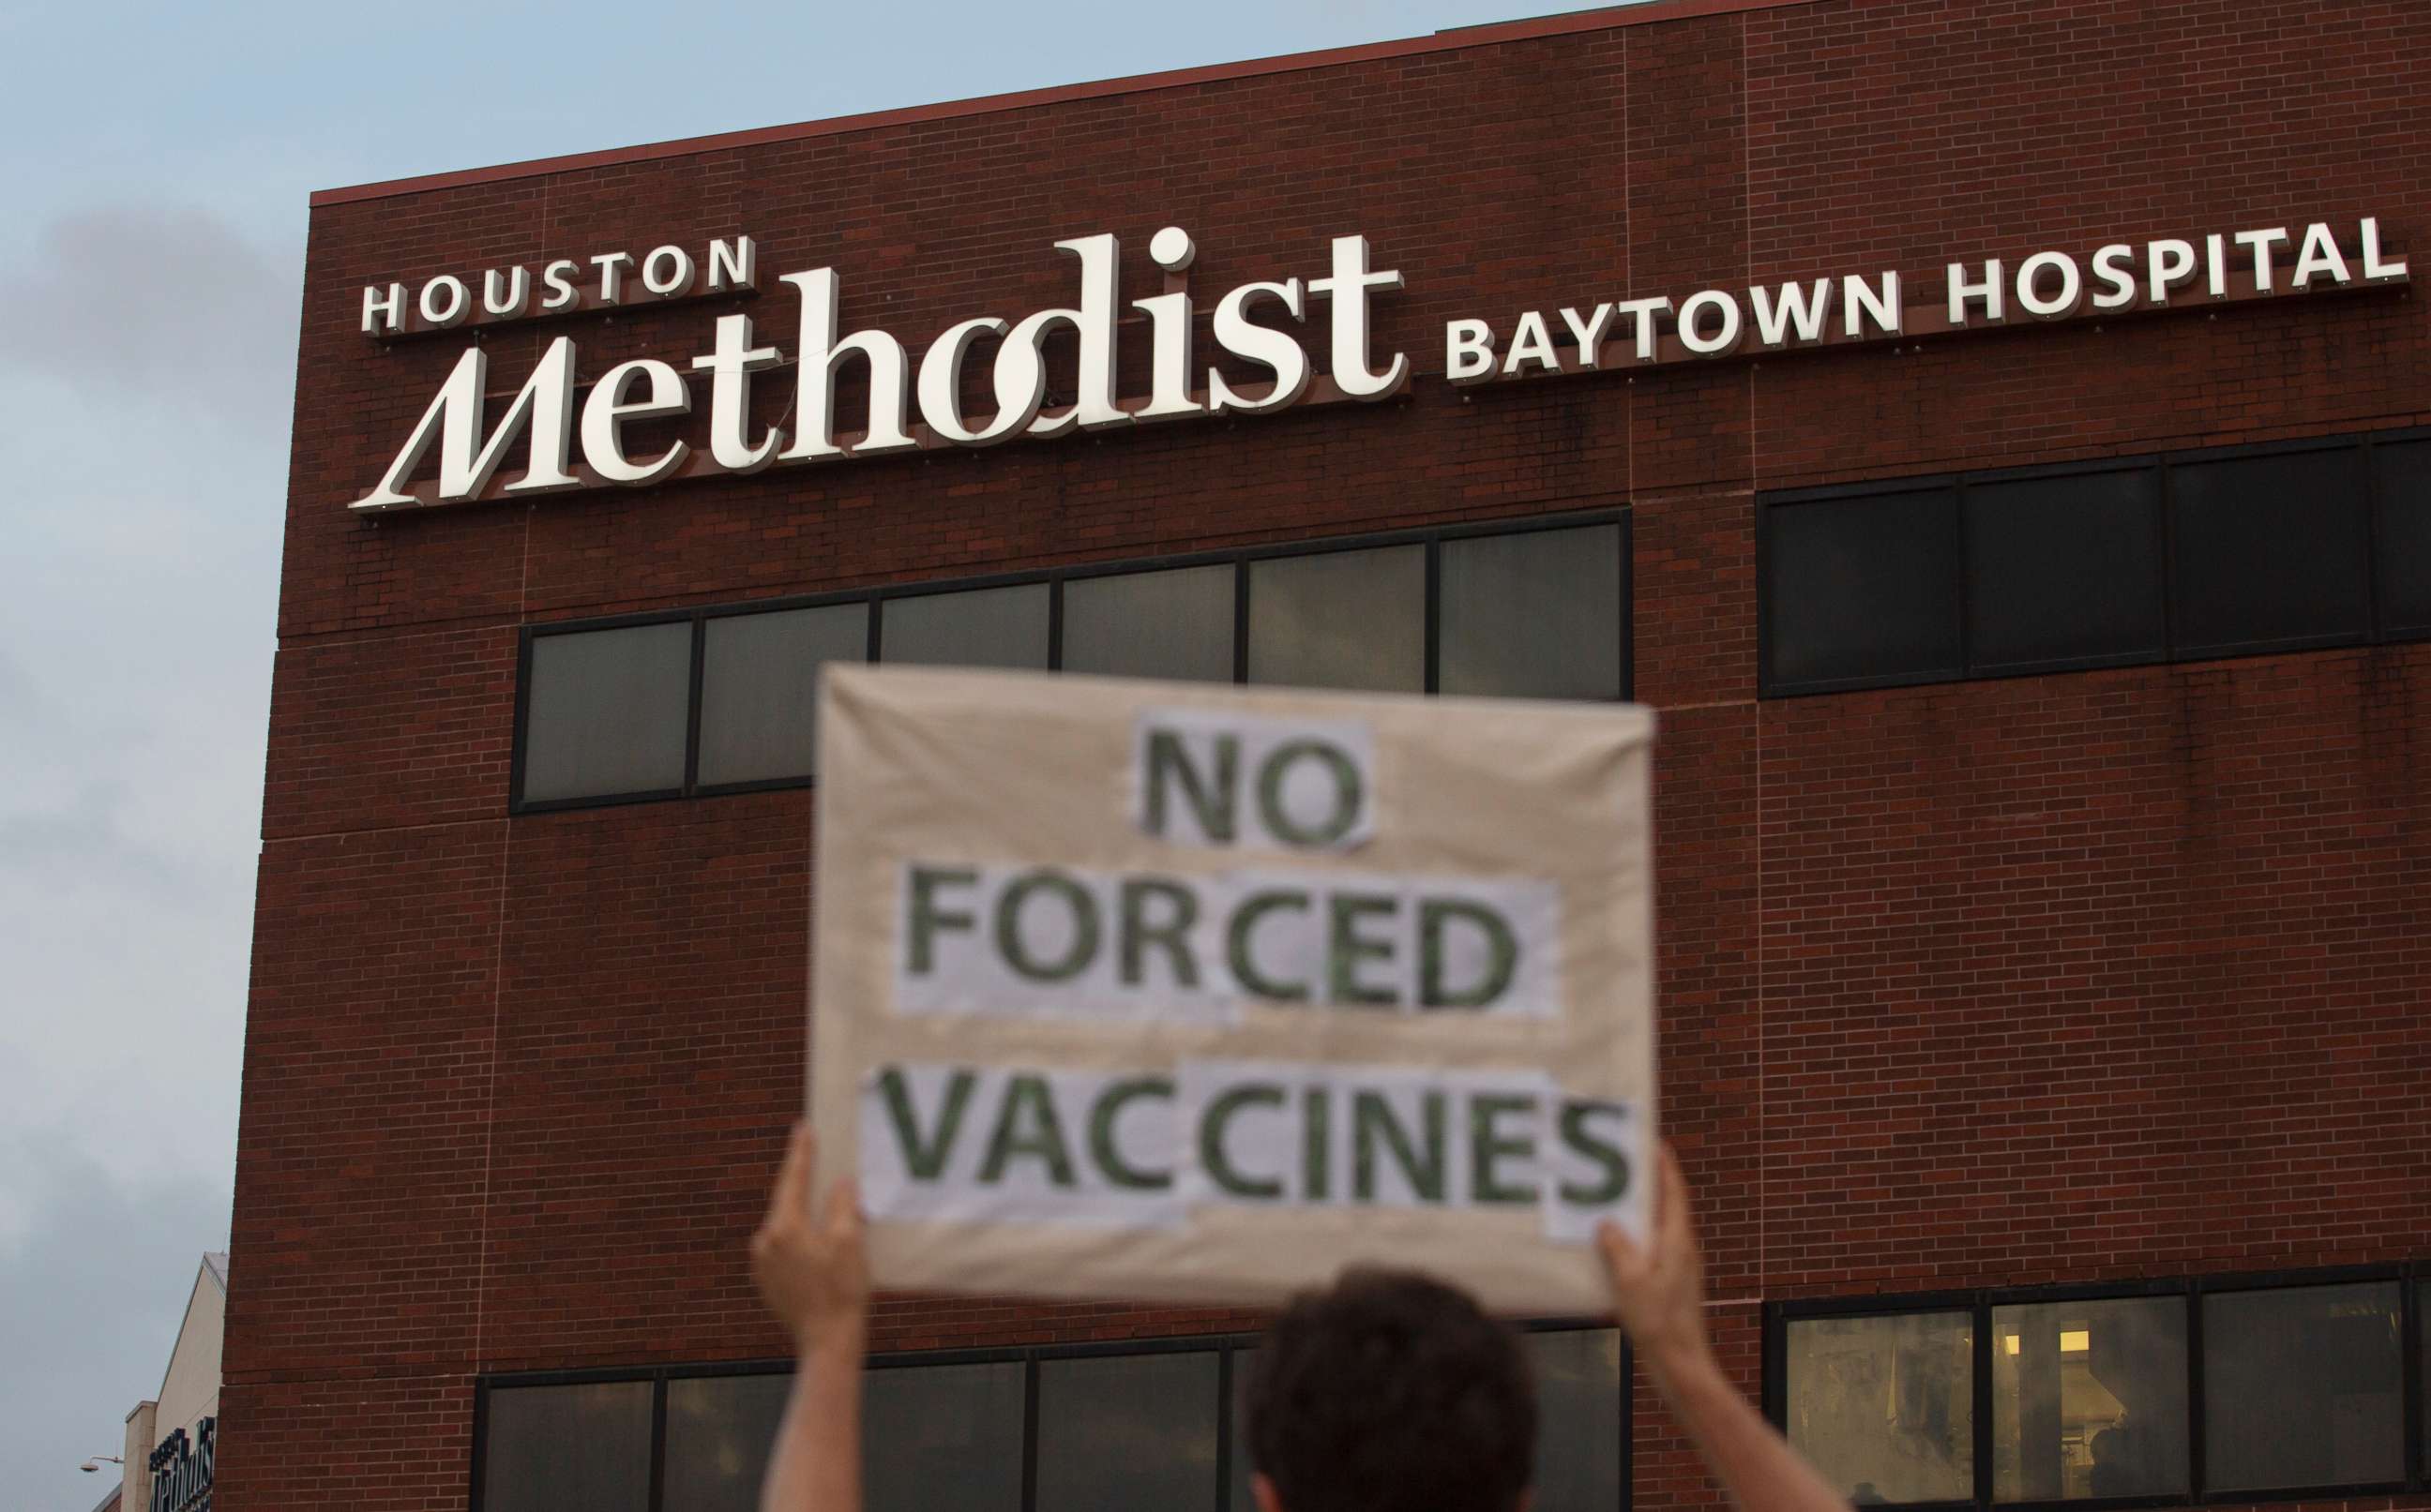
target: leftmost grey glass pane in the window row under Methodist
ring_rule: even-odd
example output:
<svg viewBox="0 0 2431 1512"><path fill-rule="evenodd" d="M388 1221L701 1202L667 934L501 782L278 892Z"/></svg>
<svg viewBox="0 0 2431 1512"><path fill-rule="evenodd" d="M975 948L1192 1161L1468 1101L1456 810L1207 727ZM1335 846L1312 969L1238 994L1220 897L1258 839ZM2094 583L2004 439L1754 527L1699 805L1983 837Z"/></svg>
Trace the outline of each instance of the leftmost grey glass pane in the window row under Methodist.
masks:
<svg viewBox="0 0 2431 1512"><path fill-rule="evenodd" d="M690 715L688 622L535 634L523 800L683 788Z"/></svg>

